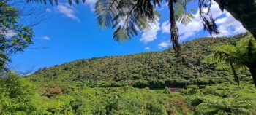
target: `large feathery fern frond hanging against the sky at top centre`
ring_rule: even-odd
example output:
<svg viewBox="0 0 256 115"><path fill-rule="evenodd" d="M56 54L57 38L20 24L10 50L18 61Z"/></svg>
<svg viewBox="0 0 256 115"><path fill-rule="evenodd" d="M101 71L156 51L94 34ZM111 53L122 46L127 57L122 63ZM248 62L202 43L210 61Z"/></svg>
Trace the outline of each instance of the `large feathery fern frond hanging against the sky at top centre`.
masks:
<svg viewBox="0 0 256 115"><path fill-rule="evenodd" d="M150 29L150 24L159 19L150 1L99 0L94 13L100 27L116 29L113 39L118 42L137 36L138 31Z"/></svg>

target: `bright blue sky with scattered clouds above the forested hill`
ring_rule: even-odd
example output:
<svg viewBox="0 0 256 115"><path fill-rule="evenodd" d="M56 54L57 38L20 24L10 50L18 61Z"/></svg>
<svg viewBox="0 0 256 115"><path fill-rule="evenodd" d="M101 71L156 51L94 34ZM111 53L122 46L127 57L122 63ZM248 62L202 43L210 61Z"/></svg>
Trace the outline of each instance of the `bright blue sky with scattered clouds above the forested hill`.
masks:
<svg viewBox="0 0 256 115"><path fill-rule="evenodd" d="M189 8L196 6L189 4ZM141 31L139 36L122 44L113 40L113 30L102 30L97 26L93 7L94 0L73 6L65 3L47 6L45 13L50 19L34 27L34 44L24 52L12 55L10 67L22 73L91 57L162 51L171 47L169 12L165 4L158 8L162 16L158 23L151 25L151 30ZM221 12L217 4L211 11L221 32L218 36L233 36L246 31L229 13ZM181 41L209 36L203 31L197 9L193 14L192 23L178 23Z"/></svg>

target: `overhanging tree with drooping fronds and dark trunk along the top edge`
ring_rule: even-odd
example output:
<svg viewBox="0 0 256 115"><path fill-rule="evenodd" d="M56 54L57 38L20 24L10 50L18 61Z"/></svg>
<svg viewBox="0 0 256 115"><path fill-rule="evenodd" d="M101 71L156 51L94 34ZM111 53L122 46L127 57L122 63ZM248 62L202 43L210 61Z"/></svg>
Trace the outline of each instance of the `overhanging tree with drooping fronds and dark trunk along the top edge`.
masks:
<svg viewBox="0 0 256 115"><path fill-rule="evenodd" d="M27 0L47 3L47 0ZM49 0L53 4L53 0ZM80 0L75 0L79 4ZM187 24L191 22L193 15L186 11L186 6L189 1L195 0L167 0L170 9L170 40L173 42L173 48L179 55L181 50L178 44L178 28L176 20L181 23ZM216 0L215 0L216 1ZM55 0L58 4L58 0ZM69 0L71 5L73 0ZM85 2L85 0L83 0ZM154 18L156 12L155 7L160 7L162 0L98 0L95 7L96 15L98 17L99 25L116 28L114 39L117 41L126 41L131 39L132 36L137 35L137 30L148 29L148 26L141 26L140 23L155 23L157 18ZM199 14L202 19L204 30L212 34L219 34L217 24L214 21L211 13L211 5L213 0L198 0ZM255 1L216 1L219 8L226 9L230 12L236 20L243 23L244 28L249 30L253 36L256 36L255 31ZM244 15L240 15L243 12ZM140 17L142 16L142 17ZM149 17L149 18L148 18ZM153 18L152 18L153 17ZM141 21L145 20L145 22ZM152 21L153 20L153 21ZM139 22L139 23L138 23ZM140 28L138 28L140 27ZM256 37L255 37L256 38Z"/></svg>

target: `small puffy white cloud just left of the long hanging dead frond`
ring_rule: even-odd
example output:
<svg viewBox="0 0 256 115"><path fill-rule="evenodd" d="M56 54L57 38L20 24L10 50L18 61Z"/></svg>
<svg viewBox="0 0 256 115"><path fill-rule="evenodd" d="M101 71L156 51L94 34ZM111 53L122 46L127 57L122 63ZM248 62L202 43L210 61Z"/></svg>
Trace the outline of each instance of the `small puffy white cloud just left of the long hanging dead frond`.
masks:
<svg viewBox="0 0 256 115"><path fill-rule="evenodd" d="M148 30L143 31L142 37L140 41L143 41L144 44L147 44L148 42L154 41L157 39L157 32L160 30L160 24L157 21L157 23L151 23L151 28Z"/></svg>

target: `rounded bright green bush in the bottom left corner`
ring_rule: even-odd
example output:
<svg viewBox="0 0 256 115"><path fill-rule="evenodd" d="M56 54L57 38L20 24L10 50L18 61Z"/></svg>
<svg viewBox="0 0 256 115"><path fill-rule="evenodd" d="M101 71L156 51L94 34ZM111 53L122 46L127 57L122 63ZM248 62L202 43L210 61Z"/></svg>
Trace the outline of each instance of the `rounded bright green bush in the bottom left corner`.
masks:
<svg viewBox="0 0 256 115"><path fill-rule="evenodd" d="M36 114L32 84L14 73L0 79L0 114Z"/></svg>

